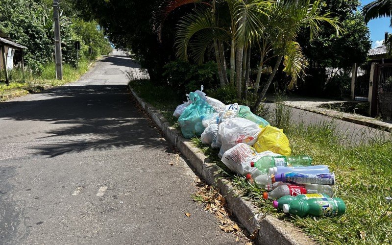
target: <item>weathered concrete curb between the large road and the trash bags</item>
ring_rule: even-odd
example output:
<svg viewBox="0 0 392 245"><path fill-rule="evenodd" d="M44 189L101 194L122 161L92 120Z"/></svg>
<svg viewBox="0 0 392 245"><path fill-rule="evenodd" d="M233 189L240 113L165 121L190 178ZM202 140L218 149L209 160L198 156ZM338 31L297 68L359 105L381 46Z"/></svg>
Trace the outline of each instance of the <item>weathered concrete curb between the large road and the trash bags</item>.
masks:
<svg viewBox="0 0 392 245"><path fill-rule="evenodd" d="M218 170L214 164L197 147L185 139L181 132L170 126L164 116L143 101L130 88L132 95L138 100L143 109L150 115L154 122L161 128L174 146L181 151L183 156L191 163L201 177L210 185L220 189L221 195L226 198L228 207L233 211L238 221L245 227L249 234L257 233L256 244L279 245L310 245L315 244L291 223L280 221L273 216L256 213L257 207L236 195L229 181L219 178Z"/></svg>

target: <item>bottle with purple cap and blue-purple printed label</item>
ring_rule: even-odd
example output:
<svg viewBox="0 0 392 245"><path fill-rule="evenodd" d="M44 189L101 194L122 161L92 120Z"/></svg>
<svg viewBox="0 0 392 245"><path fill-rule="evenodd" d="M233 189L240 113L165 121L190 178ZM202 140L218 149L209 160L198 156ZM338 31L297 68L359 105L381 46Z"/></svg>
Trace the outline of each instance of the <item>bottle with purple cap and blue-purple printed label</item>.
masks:
<svg viewBox="0 0 392 245"><path fill-rule="evenodd" d="M287 172L277 175L272 175L272 182L282 181L294 184L320 184L333 185L335 184L335 174L332 172L319 174L305 174L298 172Z"/></svg>

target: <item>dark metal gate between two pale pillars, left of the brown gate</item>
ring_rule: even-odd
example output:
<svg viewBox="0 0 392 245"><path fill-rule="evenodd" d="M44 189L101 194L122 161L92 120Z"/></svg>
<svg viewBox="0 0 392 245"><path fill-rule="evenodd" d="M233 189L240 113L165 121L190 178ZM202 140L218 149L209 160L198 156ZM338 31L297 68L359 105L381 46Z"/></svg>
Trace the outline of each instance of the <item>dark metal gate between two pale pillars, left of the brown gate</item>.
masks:
<svg viewBox="0 0 392 245"><path fill-rule="evenodd" d="M370 65L365 63L357 67L354 100L368 101Z"/></svg>

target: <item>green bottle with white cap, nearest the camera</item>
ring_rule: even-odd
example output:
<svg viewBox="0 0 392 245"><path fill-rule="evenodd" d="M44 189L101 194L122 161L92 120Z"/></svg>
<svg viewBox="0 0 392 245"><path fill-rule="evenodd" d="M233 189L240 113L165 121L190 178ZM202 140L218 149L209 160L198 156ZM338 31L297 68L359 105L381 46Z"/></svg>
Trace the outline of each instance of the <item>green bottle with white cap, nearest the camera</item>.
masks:
<svg viewBox="0 0 392 245"><path fill-rule="evenodd" d="M312 198L296 199L289 204L283 204L283 212L298 216L337 216L346 211L346 205L341 198Z"/></svg>

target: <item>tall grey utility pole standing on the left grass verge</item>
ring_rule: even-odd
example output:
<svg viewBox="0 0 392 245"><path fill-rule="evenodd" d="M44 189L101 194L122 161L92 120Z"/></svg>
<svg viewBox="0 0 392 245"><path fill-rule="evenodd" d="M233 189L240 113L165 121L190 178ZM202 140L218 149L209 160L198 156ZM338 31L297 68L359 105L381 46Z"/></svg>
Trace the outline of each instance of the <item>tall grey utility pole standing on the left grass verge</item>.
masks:
<svg viewBox="0 0 392 245"><path fill-rule="evenodd" d="M60 0L53 0L54 54L56 62L56 78L63 80L63 59L61 55L60 21L58 15L59 1Z"/></svg>

